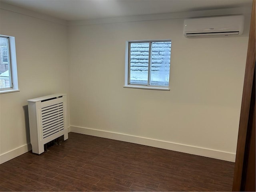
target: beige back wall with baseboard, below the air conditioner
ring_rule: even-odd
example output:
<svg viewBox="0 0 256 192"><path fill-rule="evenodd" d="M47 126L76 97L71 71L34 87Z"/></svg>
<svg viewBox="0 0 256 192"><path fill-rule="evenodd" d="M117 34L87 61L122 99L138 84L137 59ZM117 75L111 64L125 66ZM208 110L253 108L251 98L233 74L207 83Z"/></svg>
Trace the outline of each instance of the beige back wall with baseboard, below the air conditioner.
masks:
<svg viewBox="0 0 256 192"><path fill-rule="evenodd" d="M247 29L189 39L183 19L167 19L70 26L68 35L71 131L234 161ZM172 39L171 90L123 88L125 41L154 39Z"/></svg>

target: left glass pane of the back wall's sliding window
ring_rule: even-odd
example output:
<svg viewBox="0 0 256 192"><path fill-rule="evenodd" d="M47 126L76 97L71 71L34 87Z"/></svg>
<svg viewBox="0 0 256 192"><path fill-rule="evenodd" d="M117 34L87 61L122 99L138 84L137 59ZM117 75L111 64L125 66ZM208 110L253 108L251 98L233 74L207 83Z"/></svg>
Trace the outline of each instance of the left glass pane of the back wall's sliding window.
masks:
<svg viewBox="0 0 256 192"><path fill-rule="evenodd" d="M130 43L130 84L148 85L149 43Z"/></svg>

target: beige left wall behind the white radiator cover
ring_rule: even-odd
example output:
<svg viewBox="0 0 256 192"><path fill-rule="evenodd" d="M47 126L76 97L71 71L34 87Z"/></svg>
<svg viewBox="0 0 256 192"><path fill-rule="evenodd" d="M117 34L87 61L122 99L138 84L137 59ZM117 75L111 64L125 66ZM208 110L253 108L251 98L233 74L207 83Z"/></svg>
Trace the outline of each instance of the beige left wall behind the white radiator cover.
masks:
<svg viewBox="0 0 256 192"><path fill-rule="evenodd" d="M1 9L0 34L14 36L20 92L0 94L0 158L26 152L27 99L68 93L67 26ZM15 151L16 150L16 151Z"/></svg>

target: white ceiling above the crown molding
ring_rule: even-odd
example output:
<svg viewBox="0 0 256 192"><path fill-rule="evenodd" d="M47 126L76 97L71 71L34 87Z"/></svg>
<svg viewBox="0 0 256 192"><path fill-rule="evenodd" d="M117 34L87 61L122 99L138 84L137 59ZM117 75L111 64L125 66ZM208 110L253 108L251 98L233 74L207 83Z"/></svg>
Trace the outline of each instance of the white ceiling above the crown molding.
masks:
<svg viewBox="0 0 256 192"><path fill-rule="evenodd" d="M251 7L252 0L1 0L66 21Z"/></svg>

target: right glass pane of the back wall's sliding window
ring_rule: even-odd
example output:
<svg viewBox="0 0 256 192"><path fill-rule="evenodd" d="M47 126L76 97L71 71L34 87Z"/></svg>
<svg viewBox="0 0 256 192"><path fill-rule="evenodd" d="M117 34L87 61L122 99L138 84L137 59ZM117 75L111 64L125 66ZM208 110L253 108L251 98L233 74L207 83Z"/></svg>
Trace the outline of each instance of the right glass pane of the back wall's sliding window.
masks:
<svg viewBox="0 0 256 192"><path fill-rule="evenodd" d="M150 85L169 86L171 42L152 42Z"/></svg>

